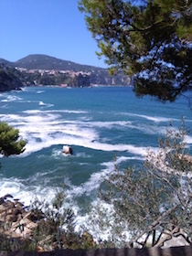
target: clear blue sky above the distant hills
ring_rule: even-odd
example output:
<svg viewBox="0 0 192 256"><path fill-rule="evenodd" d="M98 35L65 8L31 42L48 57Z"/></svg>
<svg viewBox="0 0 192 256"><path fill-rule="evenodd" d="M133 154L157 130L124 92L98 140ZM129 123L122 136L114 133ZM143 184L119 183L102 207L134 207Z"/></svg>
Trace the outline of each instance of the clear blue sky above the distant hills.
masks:
<svg viewBox="0 0 192 256"><path fill-rule="evenodd" d="M78 0L0 0L0 58L10 61L29 54L106 68L95 54Z"/></svg>

